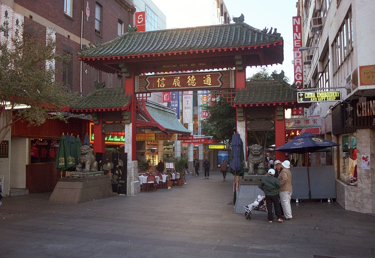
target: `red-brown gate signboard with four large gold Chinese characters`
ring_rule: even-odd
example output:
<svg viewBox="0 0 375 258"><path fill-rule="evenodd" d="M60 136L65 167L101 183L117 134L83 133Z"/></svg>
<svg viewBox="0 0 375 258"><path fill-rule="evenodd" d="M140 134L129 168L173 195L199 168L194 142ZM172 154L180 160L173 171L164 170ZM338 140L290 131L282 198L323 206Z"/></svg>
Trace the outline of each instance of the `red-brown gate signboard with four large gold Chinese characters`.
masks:
<svg viewBox="0 0 375 258"><path fill-rule="evenodd" d="M234 88L234 71L142 75L135 79L136 92L228 88Z"/></svg>

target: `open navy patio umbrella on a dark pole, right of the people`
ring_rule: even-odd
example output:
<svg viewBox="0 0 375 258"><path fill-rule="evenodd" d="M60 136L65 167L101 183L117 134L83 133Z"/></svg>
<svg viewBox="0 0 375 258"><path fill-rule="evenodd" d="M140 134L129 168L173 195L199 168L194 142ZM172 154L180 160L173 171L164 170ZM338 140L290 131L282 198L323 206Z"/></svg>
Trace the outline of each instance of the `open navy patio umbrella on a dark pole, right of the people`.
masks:
<svg viewBox="0 0 375 258"><path fill-rule="evenodd" d="M290 142L276 148L276 151L282 151L287 153L299 153L308 154L311 152L317 152L327 147L339 146L340 144L329 141L320 137L317 137L311 133L302 133L296 136ZM310 175L309 175L309 160L307 164L307 179L309 184L309 199L311 201L311 189L310 189Z"/></svg>

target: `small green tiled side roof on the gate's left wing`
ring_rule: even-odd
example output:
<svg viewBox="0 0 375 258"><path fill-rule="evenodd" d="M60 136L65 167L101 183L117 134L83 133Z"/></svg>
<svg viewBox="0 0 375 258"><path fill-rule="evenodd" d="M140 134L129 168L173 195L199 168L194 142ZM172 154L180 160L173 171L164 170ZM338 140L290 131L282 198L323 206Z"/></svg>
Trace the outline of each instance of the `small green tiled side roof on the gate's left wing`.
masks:
<svg viewBox="0 0 375 258"><path fill-rule="evenodd" d="M95 90L70 105L72 113L125 110L132 99L123 88Z"/></svg>

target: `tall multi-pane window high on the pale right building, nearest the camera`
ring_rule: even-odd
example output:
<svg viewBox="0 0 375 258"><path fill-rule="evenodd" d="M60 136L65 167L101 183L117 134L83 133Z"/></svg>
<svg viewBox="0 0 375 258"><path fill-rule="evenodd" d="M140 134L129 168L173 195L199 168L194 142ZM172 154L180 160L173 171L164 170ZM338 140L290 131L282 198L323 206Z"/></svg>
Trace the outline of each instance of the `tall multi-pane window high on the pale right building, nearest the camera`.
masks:
<svg viewBox="0 0 375 258"><path fill-rule="evenodd" d="M353 48L353 22L351 10L347 13L332 43L333 71L337 71Z"/></svg>

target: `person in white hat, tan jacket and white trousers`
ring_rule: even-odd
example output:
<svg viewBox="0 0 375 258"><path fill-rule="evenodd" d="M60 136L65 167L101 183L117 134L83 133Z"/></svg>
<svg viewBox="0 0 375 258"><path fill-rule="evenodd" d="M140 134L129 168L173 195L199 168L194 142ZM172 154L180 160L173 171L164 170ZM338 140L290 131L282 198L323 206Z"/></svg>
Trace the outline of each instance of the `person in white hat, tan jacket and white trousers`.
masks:
<svg viewBox="0 0 375 258"><path fill-rule="evenodd" d="M289 160L285 160L281 163L282 171L279 175L279 180L281 182L280 187L280 201L281 201L281 207L284 211L285 219L292 219L292 208L290 206L290 199L292 196L292 174L289 170L290 168L290 162Z"/></svg>

